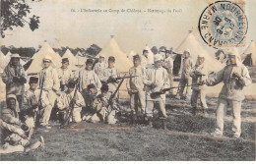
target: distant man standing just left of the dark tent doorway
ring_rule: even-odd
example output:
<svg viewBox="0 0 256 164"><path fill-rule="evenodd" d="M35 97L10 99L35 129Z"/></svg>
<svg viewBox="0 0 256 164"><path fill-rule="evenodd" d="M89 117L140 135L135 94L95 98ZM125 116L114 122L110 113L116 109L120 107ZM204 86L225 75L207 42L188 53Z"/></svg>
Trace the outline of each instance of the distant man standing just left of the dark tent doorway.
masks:
<svg viewBox="0 0 256 164"><path fill-rule="evenodd" d="M172 75L172 69L173 69L173 60L170 56L170 51L165 51L165 60L163 63L163 67L166 69L169 77L169 85L172 87L173 83L173 75ZM169 90L169 94L172 94L172 89Z"/></svg>

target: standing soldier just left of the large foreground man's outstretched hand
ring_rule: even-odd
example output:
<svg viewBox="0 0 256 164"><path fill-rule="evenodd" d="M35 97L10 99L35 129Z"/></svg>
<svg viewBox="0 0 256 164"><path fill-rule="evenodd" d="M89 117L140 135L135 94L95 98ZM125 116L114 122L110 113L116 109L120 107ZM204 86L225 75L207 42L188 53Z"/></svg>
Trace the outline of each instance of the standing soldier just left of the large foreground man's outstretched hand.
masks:
<svg viewBox="0 0 256 164"><path fill-rule="evenodd" d="M192 114L196 115L199 113L199 108L201 108L202 113L205 114L205 110L208 108L206 103L206 85L203 83L208 78L208 68L205 63L205 56L198 55L197 63L195 66L195 70L190 73L192 77L192 95L191 95L191 106L192 106ZM198 85L199 84L199 85ZM198 100L200 107L198 106Z"/></svg>

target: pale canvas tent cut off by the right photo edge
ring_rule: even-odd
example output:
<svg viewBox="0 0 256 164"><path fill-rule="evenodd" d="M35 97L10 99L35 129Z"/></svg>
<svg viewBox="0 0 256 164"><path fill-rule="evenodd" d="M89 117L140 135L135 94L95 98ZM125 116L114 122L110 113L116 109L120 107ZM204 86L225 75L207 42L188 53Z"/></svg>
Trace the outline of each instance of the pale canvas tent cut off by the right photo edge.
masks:
<svg viewBox="0 0 256 164"><path fill-rule="evenodd" d="M241 59L246 66L256 66L256 45L253 40L242 53Z"/></svg>

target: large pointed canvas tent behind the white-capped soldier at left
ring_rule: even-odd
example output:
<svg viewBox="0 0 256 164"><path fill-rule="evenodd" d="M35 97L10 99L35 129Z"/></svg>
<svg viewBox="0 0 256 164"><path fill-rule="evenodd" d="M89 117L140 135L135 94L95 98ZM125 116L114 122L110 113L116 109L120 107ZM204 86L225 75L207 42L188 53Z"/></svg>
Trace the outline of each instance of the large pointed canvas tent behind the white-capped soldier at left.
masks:
<svg viewBox="0 0 256 164"><path fill-rule="evenodd" d="M54 63L56 68L61 67L61 57L53 51L53 49L47 42L45 42L40 48L40 50L32 56L32 59L33 59L32 64L27 70L27 73L28 74L39 73L40 70L42 69L41 67L42 59L45 56L52 57L52 62Z"/></svg>

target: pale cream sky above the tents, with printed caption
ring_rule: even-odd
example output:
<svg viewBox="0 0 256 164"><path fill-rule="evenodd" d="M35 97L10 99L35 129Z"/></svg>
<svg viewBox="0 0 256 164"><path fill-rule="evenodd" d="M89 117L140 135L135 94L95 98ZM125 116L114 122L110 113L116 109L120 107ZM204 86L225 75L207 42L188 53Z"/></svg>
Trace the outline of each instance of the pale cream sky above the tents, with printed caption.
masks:
<svg viewBox="0 0 256 164"><path fill-rule="evenodd" d="M103 47L110 35L114 35L122 42L121 46L125 51L132 50L131 39L142 40L150 47L165 45L175 49L187 35L188 30L193 28L198 41L209 51L216 51L203 42L198 31L200 15L211 2L214 0L43 0L32 2L30 3L32 14L40 17L39 28L32 31L27 25L8 30L6 37L1 39L1 43L7 46L38 48L44 40L47 40L55 48L61 46L87 48L93 43ZM253 9L256 1L245 0L245 4L249 25L246 40L249 43L250 40L256 39L254 30L256 10ZM71 12L72 9L76 12ZM78 12L81 9L107 10L107 12ZM122 13L121 9L126 12ZM141 10L142 13L128 13L127 9ZM117 10L119 10L118 13ZM171 12L153 13L153 10ZM240 48L240 51L244 48Z"/></svg>

